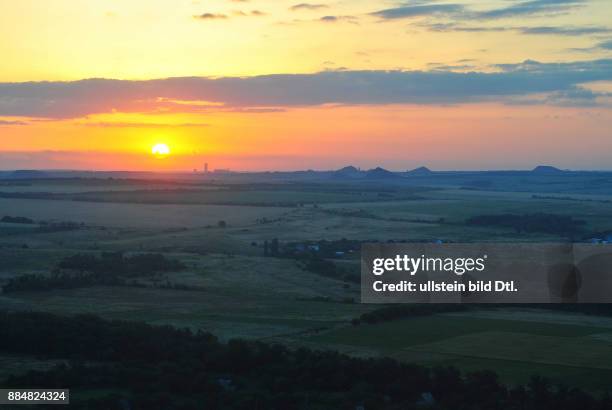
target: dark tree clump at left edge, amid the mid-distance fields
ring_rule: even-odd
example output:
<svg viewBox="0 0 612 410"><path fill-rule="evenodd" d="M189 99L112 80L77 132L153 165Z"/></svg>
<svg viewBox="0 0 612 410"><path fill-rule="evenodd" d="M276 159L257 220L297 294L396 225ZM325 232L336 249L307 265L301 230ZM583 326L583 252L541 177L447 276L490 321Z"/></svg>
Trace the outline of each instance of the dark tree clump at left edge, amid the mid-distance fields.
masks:
<svg viewBox="0 0 612 410"><path fill-rule="evenodd" d="M134 278L184 269L177 260L159 253L125 256L120 252L105 252L100 256L77 254L62 259L49 275L27 274L11 278L5 293L74 289L96 285L136 285Z"/></svg>

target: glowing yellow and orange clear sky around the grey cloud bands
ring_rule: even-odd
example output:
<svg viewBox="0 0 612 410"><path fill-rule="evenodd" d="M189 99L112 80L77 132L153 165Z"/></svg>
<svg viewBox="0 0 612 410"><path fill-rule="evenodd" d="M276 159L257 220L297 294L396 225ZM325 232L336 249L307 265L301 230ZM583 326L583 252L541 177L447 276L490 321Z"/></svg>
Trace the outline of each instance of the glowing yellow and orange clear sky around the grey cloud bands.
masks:
<svg viewBox="0 0 612 410"><path fill-rule="evenodd" d="M526 26L612 28L607 0L560 13L482 21L444 15L382 21L372 13L394 5L373 0L322 1L320 9L291 10L296 3L0 0L0 37L7 40L0 42L0 83L326 70L497 72L497 64L524 60L612 57L609 49L597 47L612 38L605 30L571 36L521 32ZM477 13L509 2L462 4ZM205 13L217 18L196 18ZM326 21L325 16L336 19ZM474 30L432 28L449 23ZM605 93L610 84L601 81L587 88ZM133 103L131 110L38 118L2 115L0 96L2 167L185 170L208 161L235 169L349 162L400 169L425 163L504 168L548 158L560 166L597 168L611 159L601 150L612 152L610 105L513 105L492 99L437 105L297 104L255 113L213 100L168 102L175 108L167 113L147 111L145 101L140 102L142 112ZM181 104L203 109L181 110ZM172 155L155 161L151 147L160 142L170 146ZM599 153L588 159L594 148ZM517 152L514 162L499 156L500 150Z"/></svg>

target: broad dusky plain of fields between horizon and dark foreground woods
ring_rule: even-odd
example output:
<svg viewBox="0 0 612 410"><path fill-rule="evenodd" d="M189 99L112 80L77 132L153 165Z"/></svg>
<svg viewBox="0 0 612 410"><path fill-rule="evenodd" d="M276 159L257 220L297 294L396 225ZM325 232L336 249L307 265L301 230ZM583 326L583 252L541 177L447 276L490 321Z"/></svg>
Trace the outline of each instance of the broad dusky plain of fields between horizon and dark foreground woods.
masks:
<svg viewBox="0 0 612 410"><path fill-rule="evenodd" d="M449 176L427 177L405 184L395 179L358 184L71 178L0 184L0 218L33 221L0 223L0 285L24 274L48 275L75 254L160 252L186 266L142 279L139 287L0 294L0 309L95 313L203 329L223 340L269 340L428 366L493 369L509 384L539 373L593 391L607 388L612 318L508 307L351 326L351 319L378 307L358 303L358 283L310 271L294 258L264 256L264 242L272 240L287 247L343 239L567 240L465 223L487 214L571 216L585 222L579 240L612 231L612 195L604 188L579 192L582 182L570 179L564 186L555 177L552 185L559 189L551 193L551 185L538 177L519 190L524 176L504 176L495 189L485 189L486 184L464 189L473 178L496 181L495 176L462 176L455 182ZM546 189L535 190L538 186ZM358 272L358 250L330 260ZM11 372L50 365L11 356L0 363Z"/></svg>

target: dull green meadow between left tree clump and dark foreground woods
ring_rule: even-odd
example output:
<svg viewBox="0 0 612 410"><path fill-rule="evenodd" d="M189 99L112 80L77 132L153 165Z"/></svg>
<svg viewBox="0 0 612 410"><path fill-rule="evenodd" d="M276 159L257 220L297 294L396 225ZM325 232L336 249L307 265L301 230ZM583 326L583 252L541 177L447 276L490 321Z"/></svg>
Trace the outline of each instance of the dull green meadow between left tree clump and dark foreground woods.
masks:
<svg viewBox="0 0 612 410"><path fill-rule="evenodd" d="M349 321L370 308L342 303L358 287L305 272L291 260L227 255L170 255L188 265L160 282L198 290L130 287L0 295L0 309L96 313L204 329L222 338L294 334ZM323 300L325 298L326 300Z"/></svg>

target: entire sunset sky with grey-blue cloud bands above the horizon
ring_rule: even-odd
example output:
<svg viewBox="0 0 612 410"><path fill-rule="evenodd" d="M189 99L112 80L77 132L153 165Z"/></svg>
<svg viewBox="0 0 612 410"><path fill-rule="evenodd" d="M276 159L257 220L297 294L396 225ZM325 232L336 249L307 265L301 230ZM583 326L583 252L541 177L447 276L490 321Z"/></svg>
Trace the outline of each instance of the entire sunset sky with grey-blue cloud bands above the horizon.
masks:
<svg viewBox="0 0 612 410"><path fill-rule="evenodd" d="M612 169L609 0L0 0L0 38L0 169Z"/></svg>

